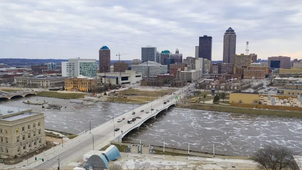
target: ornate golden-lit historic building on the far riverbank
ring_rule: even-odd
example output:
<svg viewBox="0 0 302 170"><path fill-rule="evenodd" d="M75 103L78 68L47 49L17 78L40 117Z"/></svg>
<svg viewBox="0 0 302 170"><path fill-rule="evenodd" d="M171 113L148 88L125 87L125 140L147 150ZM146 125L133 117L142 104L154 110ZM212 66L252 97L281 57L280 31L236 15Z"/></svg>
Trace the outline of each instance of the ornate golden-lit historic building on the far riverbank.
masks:
<svg viewBox="0 0 302 170"><path fill-rule="evenodd" d="M88 91L97 88L97 79L82 75L65 79L64 82L65 90Z"/></svg>

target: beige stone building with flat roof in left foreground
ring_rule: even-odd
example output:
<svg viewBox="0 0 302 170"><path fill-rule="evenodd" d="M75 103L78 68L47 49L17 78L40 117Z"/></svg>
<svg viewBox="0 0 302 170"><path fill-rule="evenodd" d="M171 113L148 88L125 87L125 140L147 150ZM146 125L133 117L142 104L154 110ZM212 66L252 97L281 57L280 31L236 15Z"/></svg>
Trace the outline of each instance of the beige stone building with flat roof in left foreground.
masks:
<svg viewBox="0 0 302 170"><path fill-rule="evenodd" d="M23 156L46 146L44 113L0 105L0 152L2 156Z"/></svg>

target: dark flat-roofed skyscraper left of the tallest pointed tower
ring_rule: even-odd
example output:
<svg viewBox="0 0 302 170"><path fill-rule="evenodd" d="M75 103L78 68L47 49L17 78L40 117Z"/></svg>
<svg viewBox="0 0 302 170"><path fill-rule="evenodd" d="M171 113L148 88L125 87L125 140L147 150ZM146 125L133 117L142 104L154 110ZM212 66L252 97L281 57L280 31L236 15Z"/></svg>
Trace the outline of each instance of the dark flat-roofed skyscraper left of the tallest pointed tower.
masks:
<svg viewBox="0 0 302 170"><path fill-rule="evenodd" d="M212 37L199 37L198 58L212 60Z"/></svg>

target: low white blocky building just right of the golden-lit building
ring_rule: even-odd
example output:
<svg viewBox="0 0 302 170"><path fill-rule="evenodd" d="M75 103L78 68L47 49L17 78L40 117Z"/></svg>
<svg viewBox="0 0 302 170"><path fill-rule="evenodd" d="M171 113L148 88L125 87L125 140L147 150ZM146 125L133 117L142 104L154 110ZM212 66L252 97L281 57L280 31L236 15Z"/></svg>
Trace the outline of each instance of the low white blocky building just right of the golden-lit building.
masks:
<svg viewBox="0 0 302 170"><path fill-rule="evenodd" d="M133 70L98 73L97 76L102 83L112 85L132 84L142 80L142 73L136 73Z"/></svg>

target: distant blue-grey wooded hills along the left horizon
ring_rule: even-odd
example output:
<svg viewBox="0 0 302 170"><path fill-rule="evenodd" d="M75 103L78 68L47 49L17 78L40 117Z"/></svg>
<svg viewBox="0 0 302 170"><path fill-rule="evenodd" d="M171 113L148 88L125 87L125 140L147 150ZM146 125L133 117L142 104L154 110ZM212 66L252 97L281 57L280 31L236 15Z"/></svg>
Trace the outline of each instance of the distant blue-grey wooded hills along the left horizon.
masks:
<svg viewBox="0 0 302 170"><path fill-rule="evenodd" d="M27 65L40 65L44 63L56 63L61 65L62 61L68 61L68 59L0 59L0 63L7 64L8 66L27 66ZM111 65L118 60L111 60ZM127 63L131 63L130 60L123 60ZM97 60L97 63L99 61Z"/></svg>

